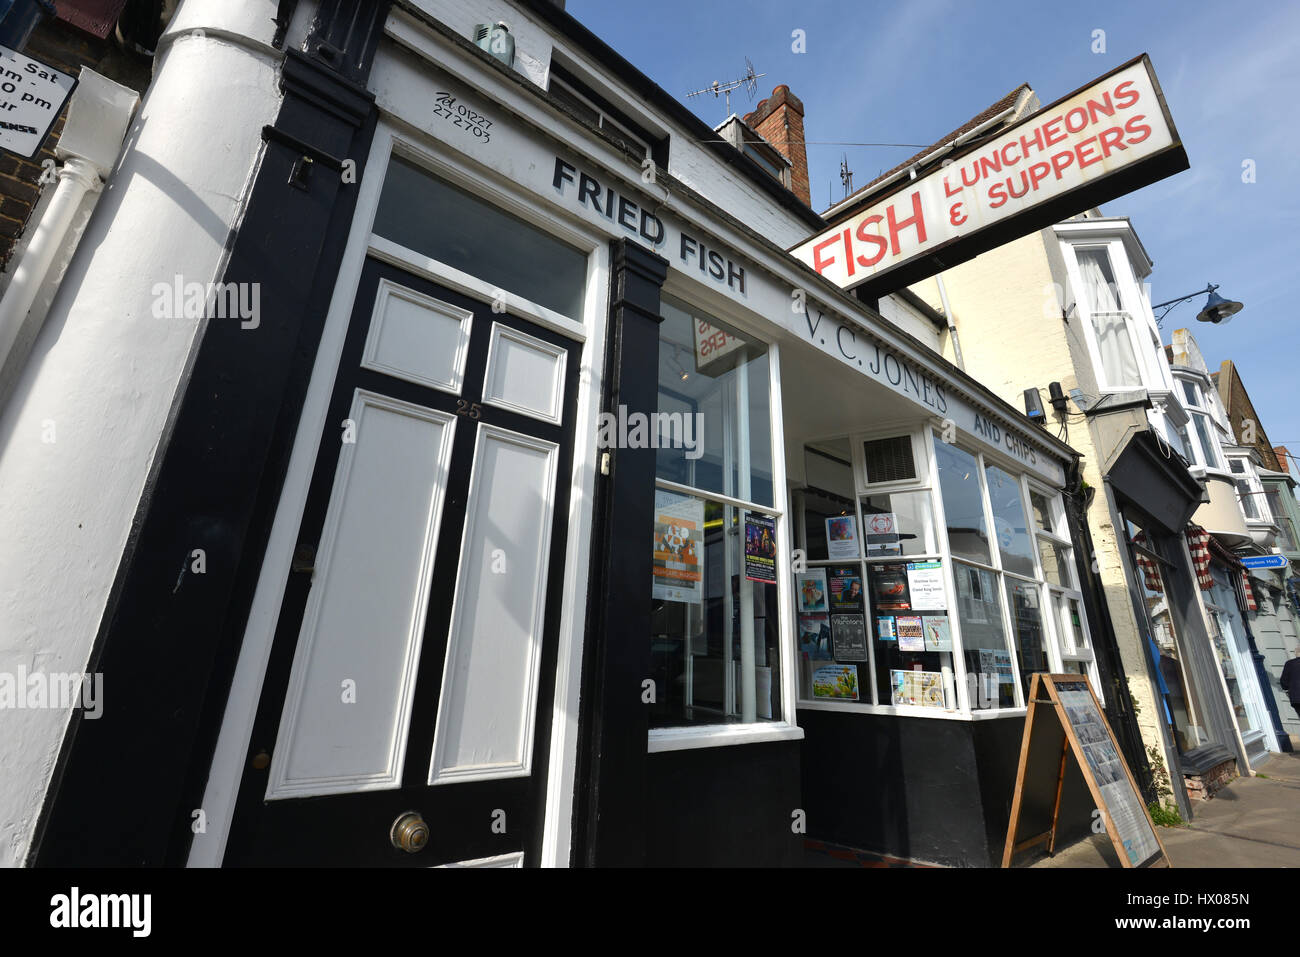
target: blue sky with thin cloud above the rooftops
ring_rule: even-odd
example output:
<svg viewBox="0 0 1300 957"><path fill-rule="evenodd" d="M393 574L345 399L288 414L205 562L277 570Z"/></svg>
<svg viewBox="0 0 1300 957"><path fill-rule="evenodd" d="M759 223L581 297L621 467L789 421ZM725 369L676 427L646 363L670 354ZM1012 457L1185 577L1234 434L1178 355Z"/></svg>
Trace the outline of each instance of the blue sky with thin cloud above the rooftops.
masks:
<svg viewBox="0 0 1300 957"><path fill-rule="evenodd" d="M1245 303L1231 324L1210 326L1196 322L1197 296L1169 313L1165 341L1186 326L1212 368L1232 359L1269 438L1300 455L1300 322L1287 306L1300 283L1300 4L568 0L567 9L710 125L724 118L723 100L684 94L741 75L746 56L767 75L753 103L732 95L734 112L789 85L806 111L818 211L842 195L842 155L862 186L915 152L823 143L928 146L1020 83L1050 103L1149 53L1191 169L1102 211L1132 218L1156 263L1152 302L1217 282ZM796 29L806 53L792 52ZM1095 30L1105 31L1104 53L1092 52ZM1242 181L1245 160L1253 183Z"/></svg>

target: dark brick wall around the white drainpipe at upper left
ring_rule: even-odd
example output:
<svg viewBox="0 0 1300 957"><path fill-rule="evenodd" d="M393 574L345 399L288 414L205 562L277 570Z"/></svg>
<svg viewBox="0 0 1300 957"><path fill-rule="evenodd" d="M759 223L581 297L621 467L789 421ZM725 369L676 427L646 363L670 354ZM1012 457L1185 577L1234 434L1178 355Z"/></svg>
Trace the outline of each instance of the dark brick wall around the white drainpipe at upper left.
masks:
<svg viewBox="0 0 1300 957"><path fill-rule="evenodd" d="M22 51L57 70L78 75L82 66L143 94L148 86L152 60L126 53L112 39L101 40L68 23L53 20L32 33ZM0 270L9 268L14 246L40 196L44 160L55 160L55 146L64 129L68 105L55 122L44 144L32 159L0 152Z"/></svg>

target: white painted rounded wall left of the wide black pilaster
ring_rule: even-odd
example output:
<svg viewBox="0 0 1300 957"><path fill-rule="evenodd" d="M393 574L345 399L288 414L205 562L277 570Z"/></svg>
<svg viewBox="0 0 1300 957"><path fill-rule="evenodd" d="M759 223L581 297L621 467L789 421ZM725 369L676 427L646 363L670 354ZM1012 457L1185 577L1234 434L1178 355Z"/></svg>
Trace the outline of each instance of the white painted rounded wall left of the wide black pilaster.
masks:
<svg viewBox="0 0 1300 957"><path fill-rule="evenodd" d="M200 328L153 319L151 289L218 276L261 127L278 112L274 16L276 0L183 0L0 410L0 672L86 668ZM110 680L103 698L114 706ZM0 713L0 865L27 854L68 719Z"/></svg>

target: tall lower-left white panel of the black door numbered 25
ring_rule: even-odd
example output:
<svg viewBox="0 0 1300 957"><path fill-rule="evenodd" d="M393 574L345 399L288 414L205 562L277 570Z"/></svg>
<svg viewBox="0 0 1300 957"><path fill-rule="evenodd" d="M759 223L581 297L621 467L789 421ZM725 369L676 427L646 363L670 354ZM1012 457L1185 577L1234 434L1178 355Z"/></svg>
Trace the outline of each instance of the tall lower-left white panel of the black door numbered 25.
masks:
<svg viewBox="0 0 1300 957"><path fill-rule="evenodd" d="M456 423L363 391L348 419L268 798L402 783Z"/></svg>

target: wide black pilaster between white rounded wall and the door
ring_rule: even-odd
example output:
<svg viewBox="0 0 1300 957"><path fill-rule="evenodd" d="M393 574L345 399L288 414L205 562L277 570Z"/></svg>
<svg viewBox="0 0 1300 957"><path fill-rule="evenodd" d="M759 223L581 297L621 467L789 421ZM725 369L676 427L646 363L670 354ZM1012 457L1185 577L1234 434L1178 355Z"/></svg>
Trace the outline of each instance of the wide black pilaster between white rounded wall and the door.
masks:
<svg viewBox="0 0 1300 957"><path fill-rule="evenodd" d="M330 0L313 52L286 53L285 99L221 276L260 285L260 324L214 319L203 332L87 666L117 703L91 722L74 714L29 863L176 866L188 854L356 205L356 185L326 164L306 179L295 170L309 150L364 173L377 116L364 77L386 10ZM187 573L194 549L203 575Z"/></svg>

